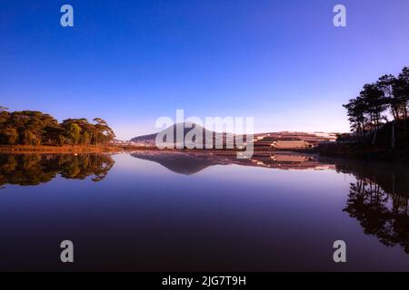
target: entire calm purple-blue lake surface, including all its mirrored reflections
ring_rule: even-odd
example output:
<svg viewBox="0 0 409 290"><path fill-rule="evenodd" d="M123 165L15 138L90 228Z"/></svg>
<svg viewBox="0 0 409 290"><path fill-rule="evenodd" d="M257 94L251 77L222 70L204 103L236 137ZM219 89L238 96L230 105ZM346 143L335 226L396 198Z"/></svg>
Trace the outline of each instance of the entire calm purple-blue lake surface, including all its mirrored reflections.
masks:
<svg viewBox="0 0 409 290"><path fill-rule="evenodd" d="M408 171L288 153L0 155L0 270L409 270Z"/></svg>

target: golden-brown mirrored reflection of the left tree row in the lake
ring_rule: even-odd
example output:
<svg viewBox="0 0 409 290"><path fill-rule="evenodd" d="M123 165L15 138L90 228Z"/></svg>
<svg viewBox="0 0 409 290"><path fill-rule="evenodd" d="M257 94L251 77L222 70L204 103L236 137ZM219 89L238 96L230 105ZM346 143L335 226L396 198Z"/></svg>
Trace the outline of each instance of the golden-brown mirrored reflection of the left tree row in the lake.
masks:
<svg viewBox="0 0 409 290"><path fill-rule="evenodd" d="M106 154L0 154L0 186L18 184L37 185L54 179L57 174L65 179L93 181L105 178L115 161Z"/></svg>

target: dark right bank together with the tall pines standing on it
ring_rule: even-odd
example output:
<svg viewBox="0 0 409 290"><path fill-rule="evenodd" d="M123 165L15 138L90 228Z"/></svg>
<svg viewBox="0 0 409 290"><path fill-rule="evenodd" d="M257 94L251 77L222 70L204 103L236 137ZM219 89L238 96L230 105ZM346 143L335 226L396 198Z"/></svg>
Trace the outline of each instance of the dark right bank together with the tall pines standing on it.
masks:
<svg viewBox="0 0 409 290"><path fill-rule="evenodd" d="M366 83L359 95L344 104L352 134L335 144L323 144L327 156L367 160L409 160L409 69L398 76L385 74ZM390 119L390 120L389 120Z"/></svg>

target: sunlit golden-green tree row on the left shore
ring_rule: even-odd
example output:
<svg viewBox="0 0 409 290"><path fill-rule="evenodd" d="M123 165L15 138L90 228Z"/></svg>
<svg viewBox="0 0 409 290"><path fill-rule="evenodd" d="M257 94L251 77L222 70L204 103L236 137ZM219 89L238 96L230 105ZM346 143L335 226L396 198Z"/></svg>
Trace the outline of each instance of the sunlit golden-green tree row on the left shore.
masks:
<svg viewBox="0 0 409 290"><path fill-rule="evenodd" d="M0 144L8 145L99 145L114 140L106 121L95 118L66 119L59 123L41 111L8 111L0 106Z"/></svg>

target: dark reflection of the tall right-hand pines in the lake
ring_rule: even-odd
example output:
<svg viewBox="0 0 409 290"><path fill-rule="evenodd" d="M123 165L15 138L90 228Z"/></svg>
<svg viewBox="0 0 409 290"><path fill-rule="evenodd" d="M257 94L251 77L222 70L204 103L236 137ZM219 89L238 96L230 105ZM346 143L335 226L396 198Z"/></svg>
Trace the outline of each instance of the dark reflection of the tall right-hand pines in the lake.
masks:
<svg viewBox="0 0 409 290"><path fill-rule="evenodd" d="M356 218L364 233L374 235L388 247L400 245L409 254L409 216L405 171L352 170L356 181L350 184L344 211ZM396 179L399 177L399 185ZM379 180L378 180L379 179Z"/></svg>

